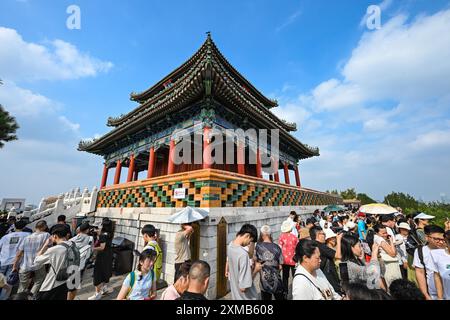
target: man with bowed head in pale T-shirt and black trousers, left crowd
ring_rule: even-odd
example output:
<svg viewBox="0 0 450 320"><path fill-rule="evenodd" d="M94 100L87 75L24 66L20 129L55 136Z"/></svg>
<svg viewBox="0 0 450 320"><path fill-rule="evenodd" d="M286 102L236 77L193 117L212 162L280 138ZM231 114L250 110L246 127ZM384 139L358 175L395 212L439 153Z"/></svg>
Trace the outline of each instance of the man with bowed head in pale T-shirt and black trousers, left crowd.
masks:
<svg viewBox="0 0 450 320"><path fill-rule="evenodd" d="M67 249L62 243L71 245L65 241L67 229L64 225L57 225L52 230L52 236L44 244L43 248L38 252L34 264L36 267L50 265L47 276L42 283L41 289L37 295L37 300L67 300L67 284L66 281L57 281L56 275L64 264ZM48 249L48 245L54 242L54 246Z"/></svg>

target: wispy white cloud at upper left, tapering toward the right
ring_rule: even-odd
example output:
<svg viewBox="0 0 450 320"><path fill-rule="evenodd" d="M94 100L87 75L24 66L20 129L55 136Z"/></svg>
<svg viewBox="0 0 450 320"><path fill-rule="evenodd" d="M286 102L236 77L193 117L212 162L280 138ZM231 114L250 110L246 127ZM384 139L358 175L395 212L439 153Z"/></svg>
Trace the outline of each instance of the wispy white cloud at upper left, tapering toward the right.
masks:
<svg viewBox="0 0 450 320"><path fill-rule="evenodd" d="M0 27L0 43L2 77L16 82L92 77L113 66L62 40L26 42L14 29Z"/></svg>

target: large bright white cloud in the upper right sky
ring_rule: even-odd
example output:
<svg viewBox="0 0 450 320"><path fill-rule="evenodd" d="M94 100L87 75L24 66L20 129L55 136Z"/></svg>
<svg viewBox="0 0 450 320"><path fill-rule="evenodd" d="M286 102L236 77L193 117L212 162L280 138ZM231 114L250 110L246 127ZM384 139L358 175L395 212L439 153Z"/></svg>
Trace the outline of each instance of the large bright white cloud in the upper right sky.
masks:
<svg viewBox="0 0 450 320"><path fill-rule="evenodd" d="M372 101L434 101L450 95L450 10L411 23L399 15L365 33L342 69L342 80L309 93L318 110L364 106Z"/></svg>

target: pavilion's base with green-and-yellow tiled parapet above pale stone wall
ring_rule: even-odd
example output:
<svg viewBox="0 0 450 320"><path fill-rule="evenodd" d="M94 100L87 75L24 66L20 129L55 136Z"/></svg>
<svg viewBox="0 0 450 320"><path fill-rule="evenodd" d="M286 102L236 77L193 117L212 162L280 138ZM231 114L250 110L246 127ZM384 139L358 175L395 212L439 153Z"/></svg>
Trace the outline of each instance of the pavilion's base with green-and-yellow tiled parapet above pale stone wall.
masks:
<svg viewBox="0 0 450 320"><path fill-rule="evenodd" d="M174 199L174 189L185 188L185 199ZM140 230L153 224L160 230L163 250L162 279L171 284L174 278L175 234L180 225L167 219L182 207L201 207L209 212L206 219L195 224L191 239L193 259L202 259L211 266L208 297L219 298L227 292L224 277L226 247L245 223L258 228L272 227L278 241L281 223L294 210L302 219L315 209L336 204L341 198L226 171L204 169L183 174L157 177L109 186L99 192L95 220L108 217L115 221L115 236L133 241L142 250Z"/></svg>

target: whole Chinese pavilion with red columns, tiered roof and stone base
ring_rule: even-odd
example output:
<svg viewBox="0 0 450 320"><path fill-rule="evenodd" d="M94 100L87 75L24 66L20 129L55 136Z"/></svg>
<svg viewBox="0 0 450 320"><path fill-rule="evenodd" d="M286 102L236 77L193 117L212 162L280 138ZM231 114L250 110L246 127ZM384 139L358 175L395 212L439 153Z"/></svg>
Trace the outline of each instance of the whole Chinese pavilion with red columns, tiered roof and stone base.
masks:
<svg viewBox="0 0 450 320"><path fill-rule="evenodd" d="M278 238L281 222L291 210L307 214L342 202L301 186L299 162L319 156L318 148L291 135L296 125L271 111L277 102L227 61L209 33L191 58L149 89L132 93L131 100L138 103L135 109L110 117L107 125L112 130L99 139L80 142L79 150L104 158L95 216L115 220L116 233L139 245L140 228L147 223L157 226L164 251L163 279L168 282L173 279L173 242L179 226L167 218L179 208L209 211L208 218L196 224L191 249L194 259L206 260L212 267L208 294L214 298L226 293L226 245L243 223L271 225ZM211 163L208 152L201 152L200 162L173 161L180 141L174 132L190 135L193 147L201 150L211 143L212 131L225 135L227 129L238 128L278 129L275 168L280 170L264 173L267 167L261 154L270 154L271 145L262 150L251 138L236 139L231 150L224 147L232 163ZM252 156L254 163L249 161Z"/></svg>

